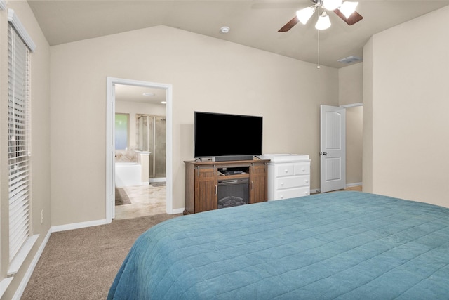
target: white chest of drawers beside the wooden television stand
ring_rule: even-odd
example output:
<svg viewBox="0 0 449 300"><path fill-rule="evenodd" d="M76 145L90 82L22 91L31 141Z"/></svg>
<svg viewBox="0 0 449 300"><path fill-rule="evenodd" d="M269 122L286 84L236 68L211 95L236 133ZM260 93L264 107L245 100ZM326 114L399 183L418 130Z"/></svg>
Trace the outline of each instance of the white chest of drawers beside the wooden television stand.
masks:
<svg viewBox="0 0 449 300"><path fill-rule="evenodd" d="M310 195L309 155L264 154L268 163L268 201Z"/></svg>

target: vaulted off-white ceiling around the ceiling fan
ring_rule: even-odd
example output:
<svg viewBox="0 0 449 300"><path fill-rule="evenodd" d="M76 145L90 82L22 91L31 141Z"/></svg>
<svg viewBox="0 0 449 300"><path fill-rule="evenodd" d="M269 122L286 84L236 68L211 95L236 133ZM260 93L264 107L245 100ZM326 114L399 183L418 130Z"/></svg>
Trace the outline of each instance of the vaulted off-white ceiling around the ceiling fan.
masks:
<svg viewBox="0 0 449 300"><path fill-rule="evenodd" d="M355 0L354 0L355 1ZM317 62L314 20L277 32L309 0L69 1L29 0L43 34L53 45L156 25L225 39L283 56ZM363 57L363 45L375 33L449 5L449 0L358 0L363 20L347 25L330 12L332 26L320 33L321 65L344 67L337 60ZM316 15L314 16L316 18ZM220 27L228 26L228 34Z"/></svg>

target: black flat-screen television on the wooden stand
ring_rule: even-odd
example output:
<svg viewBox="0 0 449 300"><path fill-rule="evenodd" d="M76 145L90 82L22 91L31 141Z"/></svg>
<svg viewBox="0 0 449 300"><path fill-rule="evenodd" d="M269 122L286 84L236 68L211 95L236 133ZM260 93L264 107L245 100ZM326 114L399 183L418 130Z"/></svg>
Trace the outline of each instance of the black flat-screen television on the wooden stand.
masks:
<svg viewBox="0 0 449 300"><path fill-rule="evenodd" d="M262 155L263 117L195 112L194 157L216 161Z"/></svg>

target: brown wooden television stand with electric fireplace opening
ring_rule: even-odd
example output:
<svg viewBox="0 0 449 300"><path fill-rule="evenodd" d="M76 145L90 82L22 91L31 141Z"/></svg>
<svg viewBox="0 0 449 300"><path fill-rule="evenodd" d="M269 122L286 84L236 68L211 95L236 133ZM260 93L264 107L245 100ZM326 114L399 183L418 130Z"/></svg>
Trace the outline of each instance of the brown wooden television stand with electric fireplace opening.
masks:
<svg viewBox="0 0 449 300"><path fill-rule="evenodd" d="M219 181L239 181L247 185L248 204L267 201L269 159L229 162L185 161L185 211L196 214L218 209ZM231 196L231 195L229 195Z"/></svg>

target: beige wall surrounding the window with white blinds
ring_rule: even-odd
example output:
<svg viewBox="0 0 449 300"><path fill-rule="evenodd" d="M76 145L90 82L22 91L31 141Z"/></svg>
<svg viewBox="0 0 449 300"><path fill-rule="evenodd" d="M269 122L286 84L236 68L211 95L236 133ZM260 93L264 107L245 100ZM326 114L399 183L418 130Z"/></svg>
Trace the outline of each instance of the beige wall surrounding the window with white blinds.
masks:
<svg viewBox="0 0 449 300"><path fill-rule="evenodd" d="M31 54L31 110L32 110L32 234L39 234L39 239L22 264L18 273L13 276L4 298L11 299L25 277L32 259L41 246L51 226L50 209L50 47L43 37L41 29L29 8L27 1L5 1L7 8L12 8L37 48ZM6 109L8 103L7 74L8 70L8 18L6 11L0 11L0 159L1 159L1 273L0 280L6 276L8 269L8 131ZM41 210L44 221L41 224Z"/></svg>

